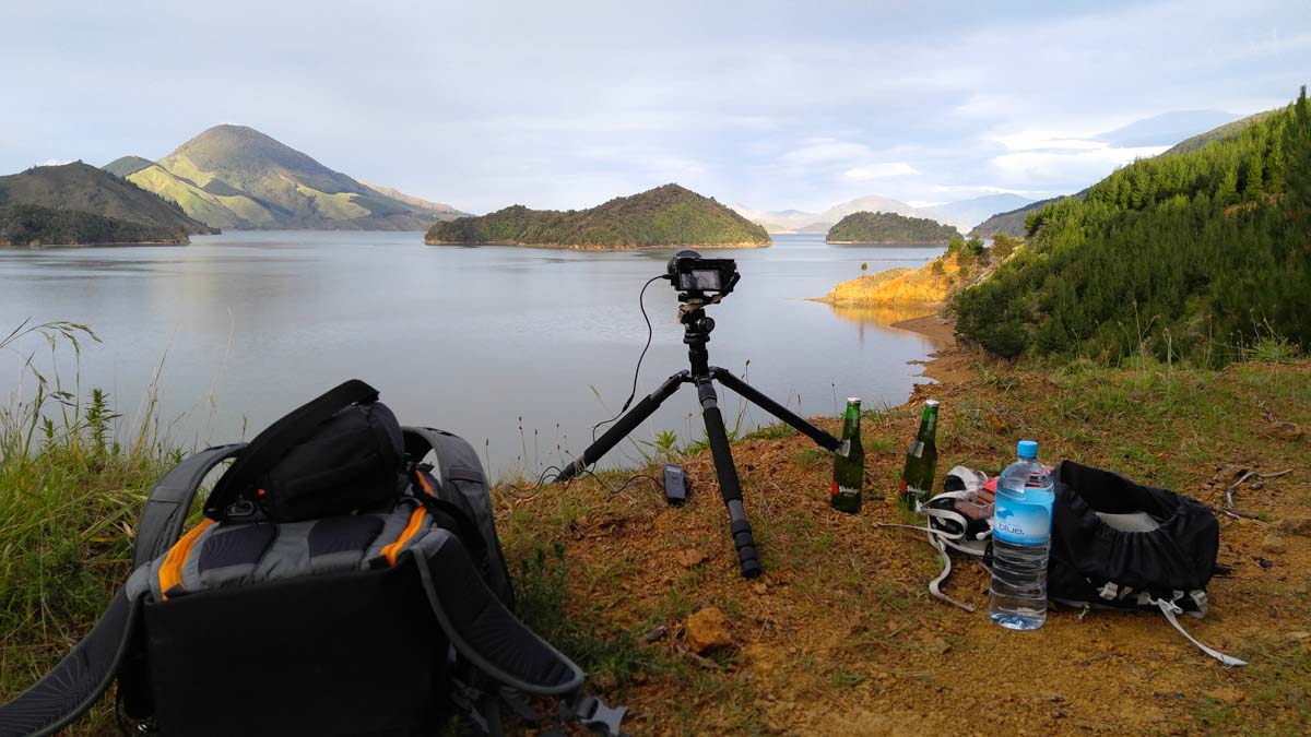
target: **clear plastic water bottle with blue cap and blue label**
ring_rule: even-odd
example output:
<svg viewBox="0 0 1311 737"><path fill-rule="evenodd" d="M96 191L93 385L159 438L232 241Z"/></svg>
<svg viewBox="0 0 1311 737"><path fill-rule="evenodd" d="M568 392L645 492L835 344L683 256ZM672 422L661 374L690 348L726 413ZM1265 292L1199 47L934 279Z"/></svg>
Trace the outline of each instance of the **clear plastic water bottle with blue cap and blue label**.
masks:
<svg viewBox="0 0 1311 737"><path fill-rule="evenodd" d="M1038 443L1020 441L1019 460L996 481L992 513L992 585L988 618L1011 629L1037 629L1047 619L1047 551L1051 502L1047 469Z"/></svg>

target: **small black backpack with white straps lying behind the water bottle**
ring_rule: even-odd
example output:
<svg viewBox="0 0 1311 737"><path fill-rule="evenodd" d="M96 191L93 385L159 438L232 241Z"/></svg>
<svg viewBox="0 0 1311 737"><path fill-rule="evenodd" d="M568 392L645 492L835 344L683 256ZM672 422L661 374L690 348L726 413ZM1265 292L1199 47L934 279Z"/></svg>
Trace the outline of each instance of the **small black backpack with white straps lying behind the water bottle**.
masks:
<svg viewBox="0 0 1311 737"><path fill-rule="evenodd" d="M1051 479L1050 601L1076 608L1160 611L1206 654L1226 665L1247 665L1198 643L1176 618L1205 616L1206 585L1223 572L1215 563L1219 523L1205 505L1072 460L1057 466ZM944 492L919 509L928 518L928 540L943 557L929 593L966 611L974 607L940 586L950 573L948 551L970 555L991 570L990 511L977 502L986 485L986 475L952 468Z"/></svg>

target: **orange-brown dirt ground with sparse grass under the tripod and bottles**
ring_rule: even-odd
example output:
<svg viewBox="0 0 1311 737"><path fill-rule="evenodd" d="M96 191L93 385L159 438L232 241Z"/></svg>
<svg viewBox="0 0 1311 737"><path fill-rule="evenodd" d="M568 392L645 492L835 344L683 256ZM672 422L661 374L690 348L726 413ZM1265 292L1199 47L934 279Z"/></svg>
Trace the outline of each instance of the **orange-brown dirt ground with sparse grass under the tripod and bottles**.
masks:
<svg viewBox="0 0 1311 737"><path fill-rule="evenodd" d="M949 338L927 320L903 327ZM650 480L619 489L628 475L501 497L513 572L566 582L553 635L585 650L595 690L631 708L629 730L1311 732L1311 446L1265 434L1274 420L1311 421L1311 362L1053 375L948 348L927 372L941 383L867 414L859 515L829 508L831 456L806 438L773 428L734 446L766 569L756 581L738 574L705 451L680 460L694 489L683 508ZM1239 469L1291 469L1236 488L1235 506L1257 518L1221 515L1232 574L1211 581L1205 619L1181 618L1251 665L1206 657L1159 614L1055 610L1038 631L1002 629L986 616L986 572L964 557L945 589L977 611L929 598L940 561L926 536L876 525L914 522L891 490L928 397L943 401L939 485L957 463L996 473L1021 437L1047 463L1072 458L1217 505ZM697 656L686 623L705 607L725 614L732 644Z"/></svg>

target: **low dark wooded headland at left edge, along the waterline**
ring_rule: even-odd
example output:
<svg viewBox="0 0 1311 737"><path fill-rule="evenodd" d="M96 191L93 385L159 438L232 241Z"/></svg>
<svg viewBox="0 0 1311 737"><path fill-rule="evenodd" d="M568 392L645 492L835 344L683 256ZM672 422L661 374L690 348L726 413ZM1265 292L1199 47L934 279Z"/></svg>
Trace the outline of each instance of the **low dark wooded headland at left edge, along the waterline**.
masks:
<svg viewBox="0 0 1311 737"><path fill-rule="evenodd" d="M181 231L130 223L80 210L35 205L0 207L0 247L187 243Z"/></svg>

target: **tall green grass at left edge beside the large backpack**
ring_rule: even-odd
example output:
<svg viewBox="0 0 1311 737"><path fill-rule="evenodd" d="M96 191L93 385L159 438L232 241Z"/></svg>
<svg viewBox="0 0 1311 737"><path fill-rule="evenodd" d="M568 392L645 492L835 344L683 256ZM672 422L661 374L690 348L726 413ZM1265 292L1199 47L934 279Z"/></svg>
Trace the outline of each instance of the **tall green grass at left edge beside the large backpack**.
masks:
<svg viewBox="0 0 1311 737"><path fill-rule="evenodd" d="M75 323L24 324L0 350L43 341L80 351L98 340ZM24 387L0 409L0 702L45 674L89 629L127 578L132 531L149 488L180 458L152 420L126 441L100 391L64 386L24 357ZM79 729L109 729L101 704Z"/></svg>

